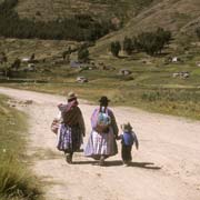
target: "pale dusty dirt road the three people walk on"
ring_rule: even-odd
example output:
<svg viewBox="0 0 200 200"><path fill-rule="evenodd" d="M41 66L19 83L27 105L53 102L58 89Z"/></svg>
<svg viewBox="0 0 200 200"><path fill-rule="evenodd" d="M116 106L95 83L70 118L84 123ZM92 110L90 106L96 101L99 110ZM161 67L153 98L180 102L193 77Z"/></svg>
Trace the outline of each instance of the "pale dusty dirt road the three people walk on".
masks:
<svg viewBox="0 0 200 200"><path fill-rule="evenodd" d="M140 149L133 149L132 164L123 167L118 154L108 159L107 167L98 167L82 152L76 153L74 164L68 164L49 128L64 97L6 88L0 88L0 93L33 101L17 107L30 117L29 153L33 171L44 183L47 200L200 199L200 122L112 108L118 124L130 121L138 133ZM80 108L87 124L86 143L94 106L80 101Z"/></svg>

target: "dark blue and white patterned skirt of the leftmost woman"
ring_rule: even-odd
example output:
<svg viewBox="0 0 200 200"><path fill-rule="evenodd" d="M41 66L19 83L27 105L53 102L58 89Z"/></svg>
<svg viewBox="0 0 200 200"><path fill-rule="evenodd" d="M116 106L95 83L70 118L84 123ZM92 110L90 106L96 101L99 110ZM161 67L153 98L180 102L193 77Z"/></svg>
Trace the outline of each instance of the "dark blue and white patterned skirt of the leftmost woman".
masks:
<svg viewBox="0 0 200 200"><path fill-rule="evenodd" d="M61 123L58 131L57 148L64 152L79 151L83 142L81 130L78 126L69 127Z"/></svg>

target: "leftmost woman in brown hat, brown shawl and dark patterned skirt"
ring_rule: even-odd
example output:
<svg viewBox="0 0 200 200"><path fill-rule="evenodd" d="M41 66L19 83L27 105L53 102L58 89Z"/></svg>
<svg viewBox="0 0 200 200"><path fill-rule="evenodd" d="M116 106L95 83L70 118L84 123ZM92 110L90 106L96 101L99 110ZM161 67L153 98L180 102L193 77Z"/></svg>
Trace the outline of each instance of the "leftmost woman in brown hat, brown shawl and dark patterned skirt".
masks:
<svg viewBox="0 0 200 200"><path fill-rule="evenodd" d="M68 103L58 106L61 112L61 124L58 131L57 148L64 151L68 163L72 163L73 152L80 151L82 137L86 134L83 117L78 104L77 96L70 92Z"/></svg>

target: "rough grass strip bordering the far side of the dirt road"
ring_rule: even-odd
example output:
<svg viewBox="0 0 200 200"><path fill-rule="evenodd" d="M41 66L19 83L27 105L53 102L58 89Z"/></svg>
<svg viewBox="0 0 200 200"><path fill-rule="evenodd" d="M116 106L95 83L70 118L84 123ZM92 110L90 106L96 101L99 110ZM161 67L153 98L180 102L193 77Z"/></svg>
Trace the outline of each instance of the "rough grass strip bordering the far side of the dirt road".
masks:
<svg viewBox="0 0 200 200"><path fill-rule="evenodd" d="M169 88L164 86L124 86L104 81L99 83L7 84L39 92L66 94L73 90L80 98L98 103L101 96L111 99L111 106L137 107L151 112L200 120L200 90L197 88Z"/></svg>

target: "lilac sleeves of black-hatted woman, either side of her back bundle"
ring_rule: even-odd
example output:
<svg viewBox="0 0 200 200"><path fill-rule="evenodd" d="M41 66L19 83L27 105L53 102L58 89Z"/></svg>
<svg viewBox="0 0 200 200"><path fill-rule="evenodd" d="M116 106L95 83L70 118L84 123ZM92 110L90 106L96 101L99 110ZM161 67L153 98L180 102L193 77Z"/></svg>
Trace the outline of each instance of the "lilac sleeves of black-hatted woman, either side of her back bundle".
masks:
<svg viewBox="0 0 200 200"><path fill-rule="evenodd" d="M100 108L94 109L94 111L93 111L93 113L91 116L91 127L92 127L92 129L96 129L96 127L97 127L99 110L100 110ZM106 112L111 118L111 124L110 126L113 129L113 133L116 136L118 136L119 129L118 129L113 112L109 108L106 109Z"/></svg>

